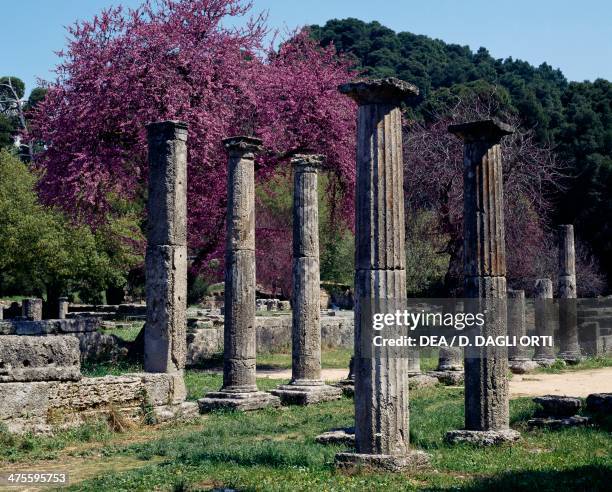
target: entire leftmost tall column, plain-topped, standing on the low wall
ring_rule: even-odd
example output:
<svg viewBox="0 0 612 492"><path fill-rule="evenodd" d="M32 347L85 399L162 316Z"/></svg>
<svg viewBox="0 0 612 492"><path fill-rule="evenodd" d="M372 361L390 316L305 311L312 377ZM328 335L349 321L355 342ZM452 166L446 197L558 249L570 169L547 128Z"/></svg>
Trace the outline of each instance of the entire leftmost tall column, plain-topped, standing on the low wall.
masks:
<svg viewBox="0 0 612 492"><path fill-rule="evenodd" d="M160 121L147 125L147 202L144 336L146 372L177 374L186 352L187 309L187 125Z"/></svg>

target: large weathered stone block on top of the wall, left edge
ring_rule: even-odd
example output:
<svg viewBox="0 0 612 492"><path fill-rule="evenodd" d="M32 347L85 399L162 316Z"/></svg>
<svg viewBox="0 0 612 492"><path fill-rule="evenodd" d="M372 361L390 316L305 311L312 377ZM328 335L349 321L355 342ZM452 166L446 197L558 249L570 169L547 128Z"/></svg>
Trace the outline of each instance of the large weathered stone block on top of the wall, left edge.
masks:
<svg viewBox="0 0 612 492"><path fill-rule="evenodd" d="M76 338L0 337L0 383L76 381L80 378L80 352Z"/></svg>

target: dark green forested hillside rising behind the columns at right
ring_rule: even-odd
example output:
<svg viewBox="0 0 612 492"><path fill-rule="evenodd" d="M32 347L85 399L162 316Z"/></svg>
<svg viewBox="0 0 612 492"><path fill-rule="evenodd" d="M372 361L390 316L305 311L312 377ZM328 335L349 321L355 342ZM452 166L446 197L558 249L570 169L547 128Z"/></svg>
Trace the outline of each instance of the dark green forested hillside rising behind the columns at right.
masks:
<svg viewBox="0 0 612 492"><path fill-rule="evenodd" d="M567 163L563 190L554 196L555 223L573 223L612 280L612 83L569 82L544 63L496 59L485 48L447 44L378 22L330 20L312 26L322 45L355 58L369 76L397 76L421 91L417 118L432 119L448 103L491 90L508 112L519 115L541 143Z"/></svg>

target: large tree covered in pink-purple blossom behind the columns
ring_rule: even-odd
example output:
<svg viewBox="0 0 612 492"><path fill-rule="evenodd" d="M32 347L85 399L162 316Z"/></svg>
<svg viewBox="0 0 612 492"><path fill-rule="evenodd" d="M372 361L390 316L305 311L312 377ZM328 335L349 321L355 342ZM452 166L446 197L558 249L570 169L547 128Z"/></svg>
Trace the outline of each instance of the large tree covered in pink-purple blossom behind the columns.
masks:
<svg viewBox="0 0 612 492"><path fill-rule="evenodd" d="M336 87L350 63L297 33L262 49L265 19L228 28L249 13L240 0L161 0L103 11L69 28L58 79L33 110L31 138L46 144L41 196L73 218L99 224L109 196L139 200L147 179L145 124L189 124L188 236L195 268L222 258L226 204L224 137L256 133L266 152L258 179L292 151L327 156L329 192L352 189L355 105ZM338 194L350 220L350 196Z"/></svg>

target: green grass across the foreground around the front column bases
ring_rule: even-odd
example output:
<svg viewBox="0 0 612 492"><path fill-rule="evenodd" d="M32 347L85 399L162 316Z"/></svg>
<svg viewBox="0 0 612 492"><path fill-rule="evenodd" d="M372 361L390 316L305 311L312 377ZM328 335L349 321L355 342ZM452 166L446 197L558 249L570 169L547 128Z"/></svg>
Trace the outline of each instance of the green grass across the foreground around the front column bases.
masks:
<svg viewBox="0 0 612 492"><path fill-rule="evenodd" d="M258 384L261 389L270 389L281 382L261 379ZM187 371L186 383L189 398L194 399L218 389L221 376ZM462 389L436 387L412 392L410 439L432 459L430 470L412 475L345 475L334 470L334 455L343 448L318 445L314 437L333 427L352 425L353 402L346 398L306 408L217 412L190 425L152 427L146 440L136 442L130 442L129 435L112 441L108 430L97 435L92 428L52 438L7 438L0 432L0 459L21 463L46 456L57 460L65 452L63 448L88 441L86 451L72 449L70 456L83 456L83 463L92 456L102 456L104 461L95 478L70 489L84 491L204 491L215 487L241 491L609 490L609 427L530 431L526 420L534 409L530 399L511 402L511 425L523 436L514 446L452 447L444 443L443 436L447 430L462 426ZM126 471L105 471L104 466L121 460L140 465Z"/></svg>

